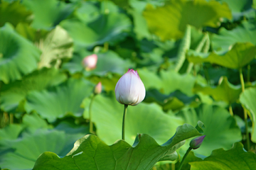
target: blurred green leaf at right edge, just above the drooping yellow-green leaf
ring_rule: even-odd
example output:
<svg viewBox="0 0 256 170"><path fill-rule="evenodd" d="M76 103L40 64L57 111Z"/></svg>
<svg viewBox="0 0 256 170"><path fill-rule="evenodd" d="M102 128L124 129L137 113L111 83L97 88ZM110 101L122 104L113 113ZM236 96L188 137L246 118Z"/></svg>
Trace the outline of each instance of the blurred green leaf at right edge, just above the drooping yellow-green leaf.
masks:
<svg viewBox="0 0 256 170"><path fill-rule="evenodd" d="M251 42L256 45L256 26L255 23L242 22L241 25L233 30L220 28L218 34L214 34L211 39L213 50L227 51L230 45L236 42Z"/></svg>

